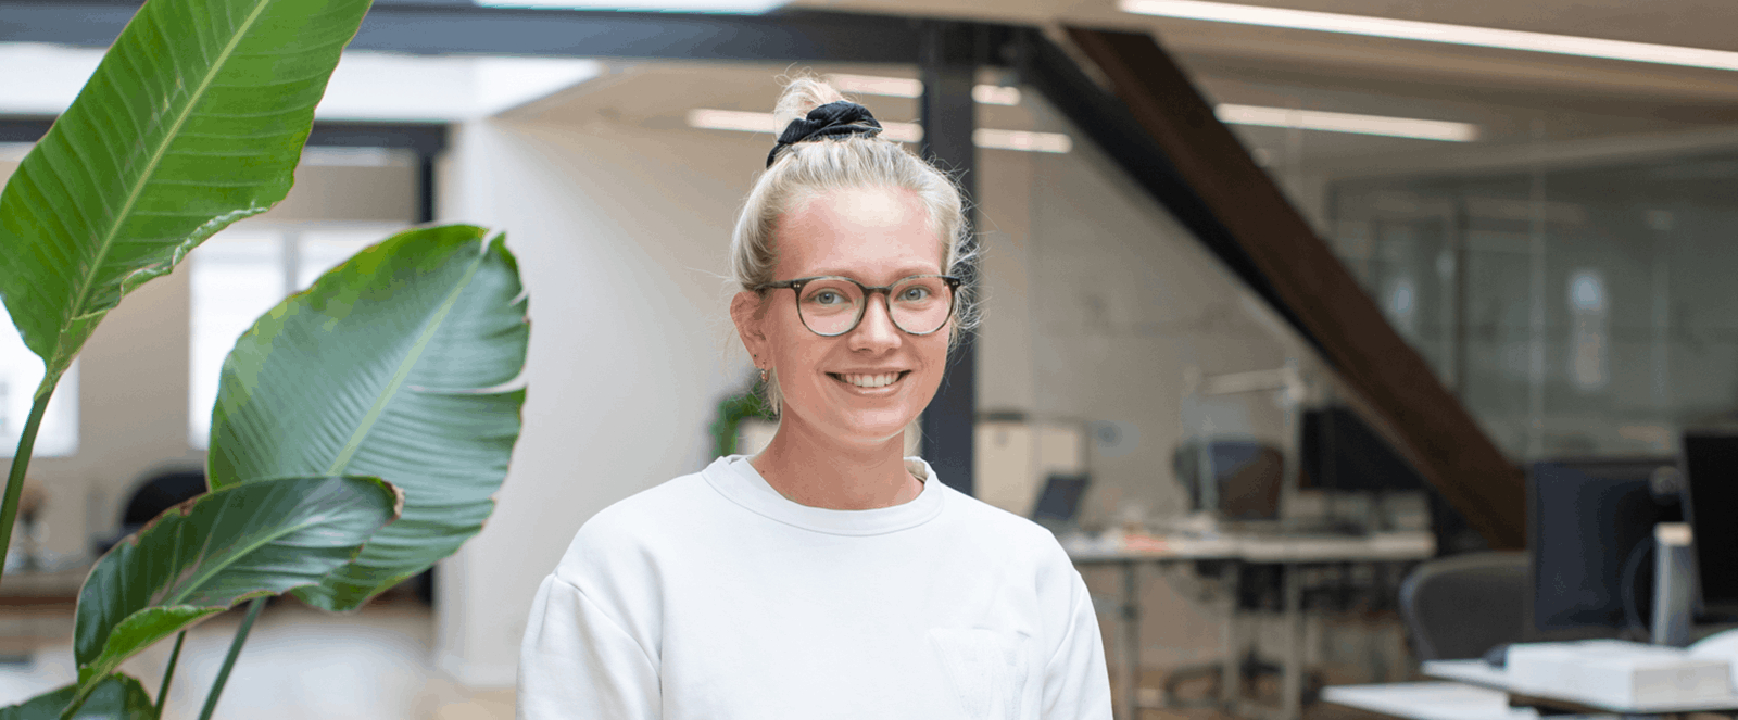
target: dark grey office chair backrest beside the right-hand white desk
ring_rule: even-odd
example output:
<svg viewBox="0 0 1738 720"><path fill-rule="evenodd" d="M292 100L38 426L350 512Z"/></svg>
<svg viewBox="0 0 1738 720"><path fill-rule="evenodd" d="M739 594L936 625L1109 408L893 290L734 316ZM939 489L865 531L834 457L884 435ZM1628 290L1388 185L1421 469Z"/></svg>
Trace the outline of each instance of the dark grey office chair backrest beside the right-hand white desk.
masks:
<svg viewBox="0 0 1738 720"><path fill-rule="evenodd" d="M1401 583L1401 617L1420 661L1484 657L1526 630L1528 555L1467 553L1418 565Z"/></svg>

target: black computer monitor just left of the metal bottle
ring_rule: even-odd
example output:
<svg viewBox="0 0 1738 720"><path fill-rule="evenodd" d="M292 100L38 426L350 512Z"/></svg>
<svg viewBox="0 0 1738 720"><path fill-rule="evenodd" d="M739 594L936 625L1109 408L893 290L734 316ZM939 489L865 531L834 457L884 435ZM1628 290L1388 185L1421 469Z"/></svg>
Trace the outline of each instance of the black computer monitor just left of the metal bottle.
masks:
<svg viewBox="0 0 1738 720"><path fill-rule="evenodd" d="M1653 527L1679 522L1653 473L1674 459L1535 463L1528 478L1528 614L1540 633L1646 626Z"/></svg>

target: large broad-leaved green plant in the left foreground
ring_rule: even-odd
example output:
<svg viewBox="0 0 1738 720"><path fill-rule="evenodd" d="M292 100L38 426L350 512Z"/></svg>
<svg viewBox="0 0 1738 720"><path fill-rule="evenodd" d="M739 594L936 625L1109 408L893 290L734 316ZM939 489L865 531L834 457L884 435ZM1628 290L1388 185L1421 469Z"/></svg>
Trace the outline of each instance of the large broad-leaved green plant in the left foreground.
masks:
<svg viewBox="0 0 1738 720"><path fill-rule="evenodd" d="M368 0L149 0L0 193L0 299L43 358L0 553L42 412L120 299L290 188L313 108ZM78 680L7 718L158 718L186 628L269 595L353 610L476 534L520 433L518 266L481 228L388 238L240 337L212 419L212 492L97 560ZM115 668L177 635L153 704Z"/></svg>

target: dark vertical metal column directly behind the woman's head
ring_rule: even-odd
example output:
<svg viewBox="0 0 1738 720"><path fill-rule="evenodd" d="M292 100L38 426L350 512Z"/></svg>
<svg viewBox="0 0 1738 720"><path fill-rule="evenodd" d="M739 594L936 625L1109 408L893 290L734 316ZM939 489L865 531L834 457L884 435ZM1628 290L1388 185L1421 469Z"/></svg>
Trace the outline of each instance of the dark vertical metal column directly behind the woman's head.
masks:
<svg viewBox="0 0 1738 720"><path fill-rule="evenodd" d="M975 235L977 207L977 103L972 85L982 54L978 26L932 23L923 31L923 157L959 183L966 200L968 242ZM972 250L970 247L966 249ZM945 270L945 268L944 268ZM968 287L977 287L977 263L965 268ZM977 341L963 334L947 353L942 386L923 410L923 456L944 483L973 494L973 428L977 424Z"/></svg>

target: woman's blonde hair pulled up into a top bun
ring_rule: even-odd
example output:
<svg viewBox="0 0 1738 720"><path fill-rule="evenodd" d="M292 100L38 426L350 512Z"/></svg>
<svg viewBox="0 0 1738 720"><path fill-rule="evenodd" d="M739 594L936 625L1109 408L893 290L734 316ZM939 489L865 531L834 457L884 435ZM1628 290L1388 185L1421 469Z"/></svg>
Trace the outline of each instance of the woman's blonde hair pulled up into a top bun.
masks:
<svg viewBox="0 0 1738 720"><path fill-rule="evenodd" d="M846 99L820 78L803 75L784 87L773 110L777 127L808 115L827 103ZM801 202L845 188L897 188L916 193L930 216L930 226L942 238L942 273L966 278L954 294L954 318L949 348L978 323L975 277L970 273L977 247L970 243L965 200L952 177L935 169L905 146L881 136L846 136L796 143L779 151L779 158L749 190L737 228L730 238L730 280L740 289L766 297L766 283L777 282L779 247L773 233L779 217ZM761 304L765 310L765 303ZM779 412L777 372L766 379L766 405Z"/></svg>

